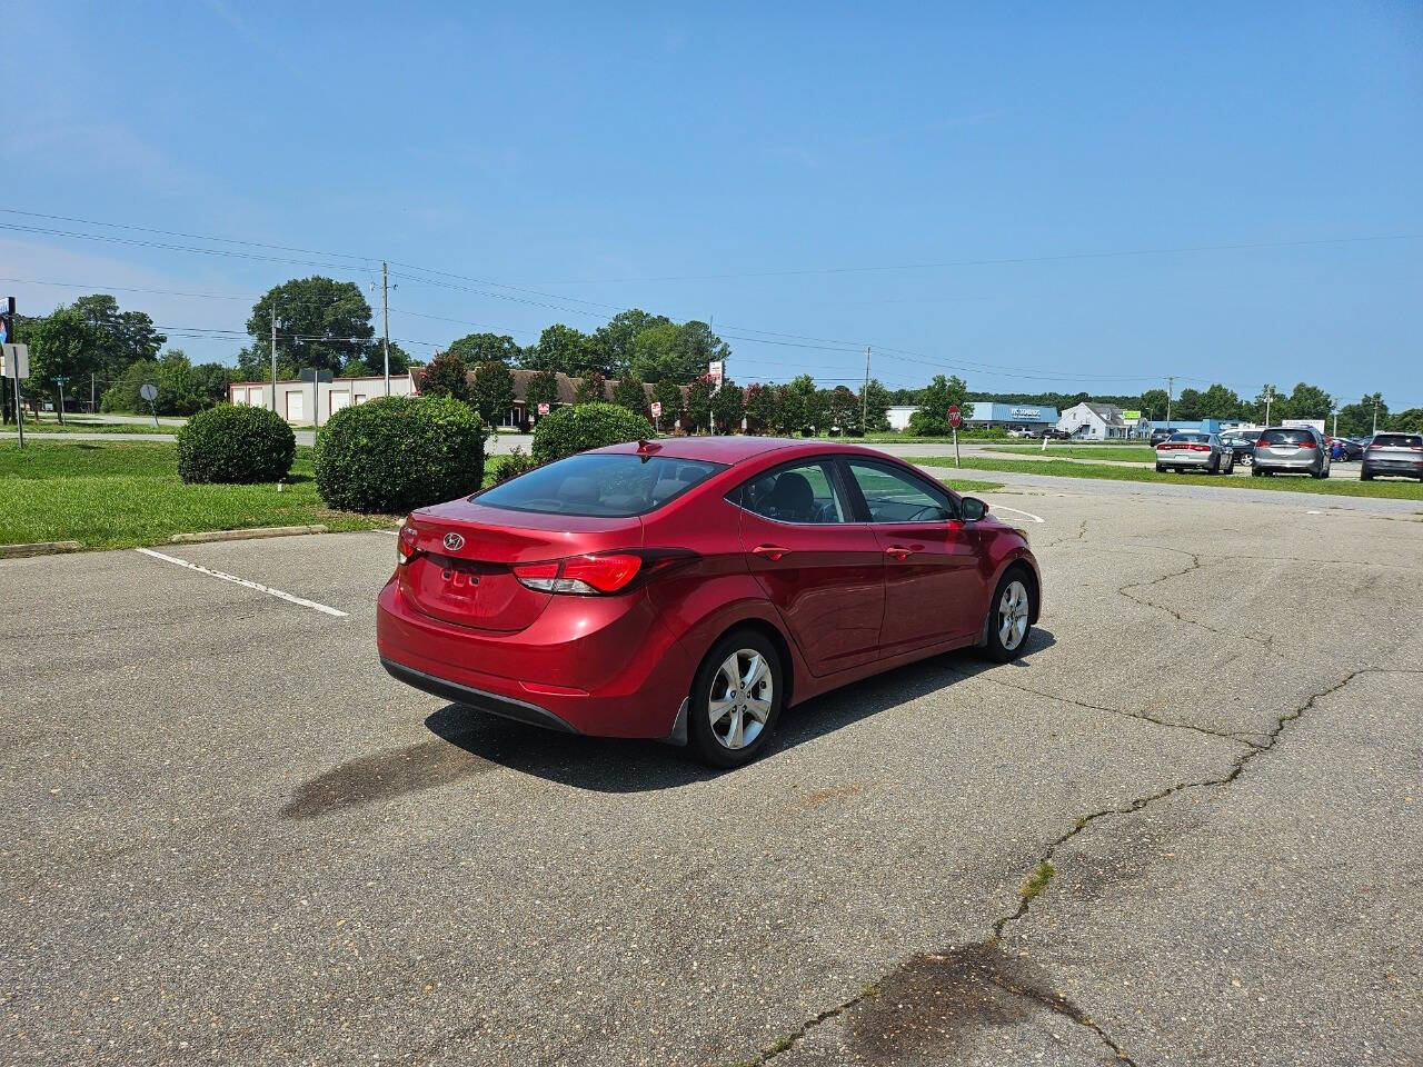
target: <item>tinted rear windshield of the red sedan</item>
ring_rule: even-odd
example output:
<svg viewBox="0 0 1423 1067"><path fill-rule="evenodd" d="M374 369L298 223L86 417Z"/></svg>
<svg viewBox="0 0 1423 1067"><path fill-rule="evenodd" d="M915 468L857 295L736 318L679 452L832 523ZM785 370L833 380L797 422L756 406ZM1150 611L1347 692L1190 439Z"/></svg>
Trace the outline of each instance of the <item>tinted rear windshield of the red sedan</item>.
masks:
<svg viewBox="0 0 1423 1067"><path fill-rule="evenodd" d="M660 508L720 469L721 464L660 455L571 455L471 499L509 511L628 518Z"/></svg>

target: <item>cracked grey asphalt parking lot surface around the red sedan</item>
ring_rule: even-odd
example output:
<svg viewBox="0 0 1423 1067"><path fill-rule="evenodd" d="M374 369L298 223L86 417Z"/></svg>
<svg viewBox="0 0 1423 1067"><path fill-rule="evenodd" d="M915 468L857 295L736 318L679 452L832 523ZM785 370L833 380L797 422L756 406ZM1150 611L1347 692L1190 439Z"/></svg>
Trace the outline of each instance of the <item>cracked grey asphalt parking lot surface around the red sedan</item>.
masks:
<svg viewBox="0 0 1423 1067"><path fill-rule="evenodd" d="M720 775L388 679L383 532L0 561L0 1061L1417 1063L1423 522L1081 487Z"/></svg>

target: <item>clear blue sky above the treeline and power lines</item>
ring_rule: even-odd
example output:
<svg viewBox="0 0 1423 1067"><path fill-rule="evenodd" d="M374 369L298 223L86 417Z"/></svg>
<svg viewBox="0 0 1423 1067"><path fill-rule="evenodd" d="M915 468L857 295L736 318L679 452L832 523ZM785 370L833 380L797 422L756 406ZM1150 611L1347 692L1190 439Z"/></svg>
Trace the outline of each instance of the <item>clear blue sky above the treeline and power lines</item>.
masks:
<svg viewBox="0 0 1423 1067"><path fill-rule="evenodd" d="M480 279L393 267L417 356L639 306L739 381L1423 404L1423 6L770 7L0 1L0 206ZM314 272L17 225L195 242L0 213L23 310L242 330Z"/></svg>

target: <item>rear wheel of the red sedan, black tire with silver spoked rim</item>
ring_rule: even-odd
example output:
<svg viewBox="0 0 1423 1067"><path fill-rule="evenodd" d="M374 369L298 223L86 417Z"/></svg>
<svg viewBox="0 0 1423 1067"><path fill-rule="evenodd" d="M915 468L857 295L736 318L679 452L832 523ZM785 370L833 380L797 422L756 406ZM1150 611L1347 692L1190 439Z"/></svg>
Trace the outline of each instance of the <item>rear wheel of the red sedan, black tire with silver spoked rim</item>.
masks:
<svg viewBox="0 0 1423 1067"><path fill-rule="evenodd" d="M737 690L730 683L730 663L737 662L737 676L744 680L754 670L754 657L764 663L750 690ZM770 686L764 718L756 713L757 693L764 697ZM716 706L713 706L716 701ZM776 733L785 703L785 666L766 635L757 630L733 630L712 646L697 667L687 703L687 747L702 763L723 770L741 767L760 757ZM724 706L724 711L716 716ZM756 736L746 734L756 727Z"/></svg>

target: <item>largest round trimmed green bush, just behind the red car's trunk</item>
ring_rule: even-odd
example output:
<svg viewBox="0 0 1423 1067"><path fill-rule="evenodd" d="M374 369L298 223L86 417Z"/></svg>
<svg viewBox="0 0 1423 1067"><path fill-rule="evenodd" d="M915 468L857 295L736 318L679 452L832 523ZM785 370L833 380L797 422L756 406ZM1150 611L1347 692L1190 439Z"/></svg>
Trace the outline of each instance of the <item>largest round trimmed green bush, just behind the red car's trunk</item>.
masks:
<svg viewBox="0 0 1423 1067"><path fill-rule="evenodd" d="M484 481L484 423L453 397L381 397L332 415L316 438L316 491L343 511L400 514Z"/></svg>

